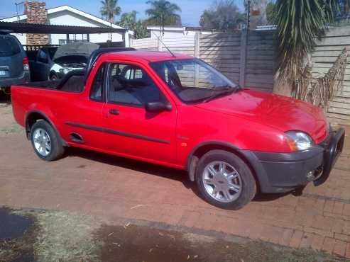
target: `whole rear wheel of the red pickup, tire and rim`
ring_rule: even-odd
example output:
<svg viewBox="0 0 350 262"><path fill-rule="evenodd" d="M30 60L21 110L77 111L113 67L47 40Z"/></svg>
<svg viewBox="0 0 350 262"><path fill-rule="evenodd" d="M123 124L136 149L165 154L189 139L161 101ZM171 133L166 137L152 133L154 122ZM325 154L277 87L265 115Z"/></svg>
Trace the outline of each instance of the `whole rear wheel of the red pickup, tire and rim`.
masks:
<svg viewBox="0 0 350 262"><path fill-rule="evenodd" d="M31 142L35 153L45 161L60 159L65 152L57 132L45 120L38 120L31 127Z"/></svg>

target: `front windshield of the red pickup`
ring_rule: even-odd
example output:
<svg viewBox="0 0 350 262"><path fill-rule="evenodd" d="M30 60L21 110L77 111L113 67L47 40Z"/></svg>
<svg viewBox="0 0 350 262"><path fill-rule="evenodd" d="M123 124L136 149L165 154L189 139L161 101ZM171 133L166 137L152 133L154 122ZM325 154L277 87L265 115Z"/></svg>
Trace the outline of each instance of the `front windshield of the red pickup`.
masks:
<svg viewBox="0 0 350 262"><path fill-rule="evenodd" d="M151 67L185 103L209 101L239 89L237 84L199 59L152 62Z"/></svg>

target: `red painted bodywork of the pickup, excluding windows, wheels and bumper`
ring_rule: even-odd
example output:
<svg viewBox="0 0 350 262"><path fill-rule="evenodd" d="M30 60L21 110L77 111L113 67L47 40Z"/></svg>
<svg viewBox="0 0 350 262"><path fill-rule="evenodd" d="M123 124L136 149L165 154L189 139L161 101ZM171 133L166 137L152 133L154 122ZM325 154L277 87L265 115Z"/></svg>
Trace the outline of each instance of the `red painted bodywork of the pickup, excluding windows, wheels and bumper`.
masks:
<svg viewBox="0 0 350 262"><path fill-rule="evenodd" d="M327 137L327 120L319 108L292 98L244 89L208 103L182 103L153 72L149 62L176 58L164 52L119 52L102 55L92 69L82 93L12 86L13 114L25 125L33 110L45 114L60 135L71 146L108 154L150 161L155 164L185 169L192 149L203 142L224 142L238 149L263 152L290 152L284 132L306 132L315 143ZM100 103L89 99L90 86L104 62L136 64L153 79L171 103L173 110L148 113L144 108ZM119 115L110 115L110 109ZM145 137L159 142L113 135L66 125L66 122L92 125ZM70 140L78 132L84 144ZM187 146L184 147L183 143Z"/></svg>

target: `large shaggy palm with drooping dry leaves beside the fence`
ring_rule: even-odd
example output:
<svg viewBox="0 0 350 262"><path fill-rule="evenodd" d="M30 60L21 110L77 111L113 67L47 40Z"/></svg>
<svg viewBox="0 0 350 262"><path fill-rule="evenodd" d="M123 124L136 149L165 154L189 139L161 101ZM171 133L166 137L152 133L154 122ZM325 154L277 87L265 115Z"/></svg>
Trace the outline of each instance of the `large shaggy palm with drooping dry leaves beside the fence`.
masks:
<svg viewBox="0 0 350 262"><path fill-rule="evenodd" d="M305 83L305 58L324 35L327 24L334 21L338 0L277 0L279 67L277 79L299 98L301 83Z"/></svg>

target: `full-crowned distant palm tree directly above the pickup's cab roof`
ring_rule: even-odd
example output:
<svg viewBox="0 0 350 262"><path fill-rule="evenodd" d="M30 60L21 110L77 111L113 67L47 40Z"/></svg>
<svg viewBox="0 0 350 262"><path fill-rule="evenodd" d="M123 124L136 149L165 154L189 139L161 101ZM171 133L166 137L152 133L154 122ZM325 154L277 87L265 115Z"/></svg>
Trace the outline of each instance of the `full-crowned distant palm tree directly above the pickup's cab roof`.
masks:
<svg viewBox="0 0 350 262"><path fill-rule="evenodd" d="M172 4L166 0L147 1L146 4L151 5L151 8L146 10L146 14L149 16L148 23L160 23L162 25L163 35L164 25L179 23L181 18L177 12L181 12L181 8L176 4Z"/></svg>

